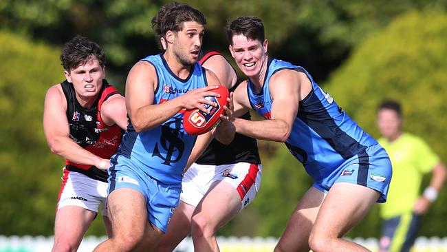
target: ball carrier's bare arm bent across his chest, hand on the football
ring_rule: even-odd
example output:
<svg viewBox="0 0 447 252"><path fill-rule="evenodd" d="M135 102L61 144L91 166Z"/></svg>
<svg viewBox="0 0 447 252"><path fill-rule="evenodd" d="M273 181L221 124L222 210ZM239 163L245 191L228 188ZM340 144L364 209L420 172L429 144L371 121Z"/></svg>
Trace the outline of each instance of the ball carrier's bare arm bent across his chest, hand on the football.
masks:
<svg viewBox="0 0 447 252"><path fill-rule="evenodd" d="M136 63L129 72L126 82L126 107L136 132L153 129L183 108L198 108L206 112L201 103L209 105L215 105L215 103L204 97L218 95L210 91L215 86L208 86L190 90L183 96L173 98L166 103L153 104L156 87L157 73L153 65L145 61Z"/></svg>

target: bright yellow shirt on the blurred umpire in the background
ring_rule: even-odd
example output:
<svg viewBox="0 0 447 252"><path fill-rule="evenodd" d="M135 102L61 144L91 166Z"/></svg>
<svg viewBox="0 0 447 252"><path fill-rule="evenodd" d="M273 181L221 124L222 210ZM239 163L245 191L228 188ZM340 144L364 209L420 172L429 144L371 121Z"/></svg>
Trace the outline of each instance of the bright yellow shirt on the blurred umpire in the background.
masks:
<svg viewBox="0 0 447 252"><path fill-rule="evenodd" d="M382 218L388 219L412 211L419 198L422 177L439 163L439 157L422 138L408 133L392 142L384 138L378 142L386 149L393 165L388 196L380 209Z"/></svg>

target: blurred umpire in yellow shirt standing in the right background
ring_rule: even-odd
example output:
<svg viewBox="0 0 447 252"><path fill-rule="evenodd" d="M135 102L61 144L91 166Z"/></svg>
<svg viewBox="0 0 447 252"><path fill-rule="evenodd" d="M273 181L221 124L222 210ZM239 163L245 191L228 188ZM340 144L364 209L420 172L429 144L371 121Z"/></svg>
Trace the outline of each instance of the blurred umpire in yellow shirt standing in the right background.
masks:
<svg viewBox="0 0 447 252"><path fill-rule="evenodd" d="M378 141L393 165L393 181L388 200L381 206L384 219L380 251L410 251L420 216L430 207L444 185L446 167L428 144L413 134L402 132L402 110L397 101L384 101L378 107ZM424 174L432 174L422 195L419 189Z"/></svg>

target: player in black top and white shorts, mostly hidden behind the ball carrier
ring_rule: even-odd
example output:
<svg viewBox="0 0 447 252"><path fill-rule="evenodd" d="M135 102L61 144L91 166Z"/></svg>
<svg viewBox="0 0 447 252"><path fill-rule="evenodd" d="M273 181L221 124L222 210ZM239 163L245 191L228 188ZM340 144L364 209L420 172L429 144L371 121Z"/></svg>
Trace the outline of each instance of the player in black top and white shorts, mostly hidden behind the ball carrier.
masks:
<svg viewBox="0 0 447 252"><path fill-rule="evenodd" d="M199 63L230 92L235 90L236 71L219 52L201 53ZM242 118L250 120L250 112ZM231 143L221 143L210 134L199 136L187 167L179 207L155 251L173 251L190 233L195 251L219 251L217 229L254 200L261 184L257 141L241 134L235 134Z"/></svg>

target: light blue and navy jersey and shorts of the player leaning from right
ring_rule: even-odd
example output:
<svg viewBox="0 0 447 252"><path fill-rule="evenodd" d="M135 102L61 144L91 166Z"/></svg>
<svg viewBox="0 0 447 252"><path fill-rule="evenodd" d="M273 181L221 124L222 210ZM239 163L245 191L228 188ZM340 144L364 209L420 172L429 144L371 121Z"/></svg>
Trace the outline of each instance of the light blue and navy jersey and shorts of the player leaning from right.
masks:
<svg viewBox="0 0 447 252"><path fill-rule="evenodd" d="M340 181L341 176L349 176L352 183L381 191L380 201L383 201L391 180L391 163L386 151L338 107L303 67L269 59L262 92L255 94L253 84L248 81L247 92L252 108L264 118L271 118L270 78L281 70L303 72L312 83L312 91L298 105L298 114L285 145L303 163L316 187L327 191L334 182ZM383 163L373 164L373 158ZM353 165L357 168L351 170ZM372 167L384 170L373 171ZM347 182L347 178L342 180Z"/></svg>

